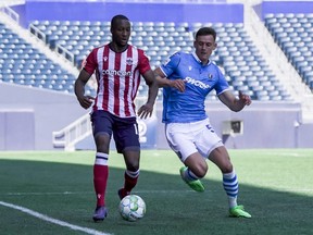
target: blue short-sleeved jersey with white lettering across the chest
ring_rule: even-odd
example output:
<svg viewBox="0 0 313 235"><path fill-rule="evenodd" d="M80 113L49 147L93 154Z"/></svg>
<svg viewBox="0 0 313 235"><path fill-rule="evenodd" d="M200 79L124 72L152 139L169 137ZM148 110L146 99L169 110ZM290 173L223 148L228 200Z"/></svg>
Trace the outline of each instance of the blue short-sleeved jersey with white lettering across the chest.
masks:
<svg viewBox="0 0 313 235"><path fill-rule="evenodd" d="M215 89L220 95L229 89L221 70L215 63L202 65L197 54L176 52L160 69L168 79L184 79L185 92L163 87L164 123L189 123L206 119L204 100Z"/></svg>

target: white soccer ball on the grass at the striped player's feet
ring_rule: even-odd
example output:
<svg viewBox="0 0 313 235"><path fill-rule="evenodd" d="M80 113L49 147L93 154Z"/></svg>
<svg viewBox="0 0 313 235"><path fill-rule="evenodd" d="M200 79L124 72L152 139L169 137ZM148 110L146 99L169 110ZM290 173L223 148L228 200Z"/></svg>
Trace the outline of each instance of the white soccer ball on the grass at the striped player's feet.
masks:
<svg viewBox="0 0 313 235"><path fill-rule="evenodd" d="M120 202L120 214L126 221L137 221L146 213L146 203L138 195L127 195Z"/></svg>

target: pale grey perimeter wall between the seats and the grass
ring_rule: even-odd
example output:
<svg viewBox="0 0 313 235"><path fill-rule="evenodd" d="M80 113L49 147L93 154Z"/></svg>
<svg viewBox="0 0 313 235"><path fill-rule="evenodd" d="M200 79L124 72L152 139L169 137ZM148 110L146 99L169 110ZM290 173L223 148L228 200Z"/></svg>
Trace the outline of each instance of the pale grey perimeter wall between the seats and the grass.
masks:
<svg viewBox="0 0 313 235"><path fill-rule="evenodd" d="M89 112L74 95L0 83L0 150L52 150L52 132L60 131ZM156 118L150 126L153 138L143 148L167 149L162 103L155 104ZM230 112L217 101L208 101L206 110L215 132L228 148L312 148L313 123L302 123L301 106L293 102L254 101L243 111ZM240 128L227 123L241 123ZM148 126L149 127L149 126ZM230 132L226 132L230 131ZM152 136L151 136L152 135ZM114 146L112 145L112 148ZM77 149L95 149L91 136Z"/></svg>

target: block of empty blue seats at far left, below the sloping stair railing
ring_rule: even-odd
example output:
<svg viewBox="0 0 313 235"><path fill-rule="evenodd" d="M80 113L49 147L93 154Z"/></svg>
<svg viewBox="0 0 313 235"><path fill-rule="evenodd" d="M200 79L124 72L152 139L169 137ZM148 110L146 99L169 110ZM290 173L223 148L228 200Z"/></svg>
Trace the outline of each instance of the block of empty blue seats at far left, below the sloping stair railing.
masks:
<svg viewBox="0 0 313 235"><path fill-rule="evenodd" d="M76 77L0 24L0 81L73 94ZM92 89L87 90L93 94Z"/></svg>

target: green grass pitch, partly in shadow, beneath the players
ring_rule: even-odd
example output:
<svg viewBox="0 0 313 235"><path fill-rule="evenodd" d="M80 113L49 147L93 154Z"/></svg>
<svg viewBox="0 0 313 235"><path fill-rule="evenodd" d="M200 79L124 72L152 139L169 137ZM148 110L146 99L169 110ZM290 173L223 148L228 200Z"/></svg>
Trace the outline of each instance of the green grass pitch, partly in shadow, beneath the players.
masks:
<svg viewBox="0 0 313 235"><path fill-rule="evenodd" d="M146 217L137 222L120 217L116 191L124 161L112 151L109 217L93 223L92 151L0 152L0 234L313 234L313 149L229 153L239 180L238 202L252 219L228 218L222 175L211 162L205 193L195 193L180 180L181 163L172 151L142 150L133 193L146 201Z"/></svg>

